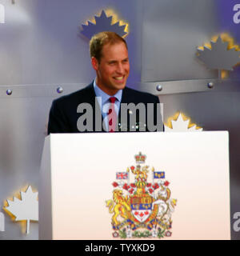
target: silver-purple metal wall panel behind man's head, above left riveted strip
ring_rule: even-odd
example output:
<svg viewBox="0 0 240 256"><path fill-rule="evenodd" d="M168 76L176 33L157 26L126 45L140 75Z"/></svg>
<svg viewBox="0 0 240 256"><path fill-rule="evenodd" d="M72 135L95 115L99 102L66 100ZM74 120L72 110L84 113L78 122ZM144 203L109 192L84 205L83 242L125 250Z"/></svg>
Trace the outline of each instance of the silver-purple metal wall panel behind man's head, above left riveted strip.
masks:
<svg viewBox="0 0 240 256"><path fill-rule="evenodd" d="M129 23L131 74L140 81L142 1L139 0L21 0L6 7L6 23L0 24L0 85L90 83L89 40L81 24L106 9Z"/></svg>

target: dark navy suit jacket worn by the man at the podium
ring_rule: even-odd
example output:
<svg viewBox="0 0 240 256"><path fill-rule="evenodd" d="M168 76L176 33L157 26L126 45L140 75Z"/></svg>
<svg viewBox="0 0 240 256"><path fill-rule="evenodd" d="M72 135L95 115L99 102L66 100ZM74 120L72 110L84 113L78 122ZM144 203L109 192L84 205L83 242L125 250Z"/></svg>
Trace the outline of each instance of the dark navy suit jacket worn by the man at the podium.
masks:
<svg viewBox="0 0 240 256"><path fill-rule="evenodd" d="M89 103L90 106L93 107L93 132L95 132L95 107L100 111L98 103L95 106L95 93L94 86L91 83L89 86L82 90L78 90L72 94L62 96L61 98L57 98L52 103L50 109L50 116L48 122L48 134L50 133L79 133L77 122L78 118L84 113L77 113L78 105L80 103ZM146 106L146 120L149 115L154 118L154 124L156 124L157 119L158 122L162 122L159 120L161 118L160 113L157 114L157 103L159 103L159 99L157 96L152 94L143 93L138 90L133 90L128 87L122 90L122 102L121 103L134 103L137 105L138 103L143 103ZM148 113L147 111L147 103L154 103L154 111ZM120 110L121 112L121 110ZM100 113L100 112L99 112ZM130 129L130 114L128 113L127 123L121 123L121 113L118 114L118 125L122 129L119 131L131 131ZM141 121L141 120L140 120ZM139 125L144 125L139 121L139 116L137 114L136 118L136 131L139 130ZM123 129L124 127L124 129ZM132 126L131 126L132 127ZM101 131L104 131L103 129ZM146 126L146 131L149 131L148 126ZM87 132L87 131L85 131Z"/></svg>

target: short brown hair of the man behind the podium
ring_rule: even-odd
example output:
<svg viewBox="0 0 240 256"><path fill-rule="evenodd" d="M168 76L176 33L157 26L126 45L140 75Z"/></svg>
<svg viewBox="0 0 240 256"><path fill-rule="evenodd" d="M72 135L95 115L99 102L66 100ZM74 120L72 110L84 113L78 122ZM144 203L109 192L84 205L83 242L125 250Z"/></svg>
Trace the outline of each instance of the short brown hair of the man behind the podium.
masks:
<svg viewBox="0 0 240 256"><path fill-rule="evenodd" d="M90 57L97 58L98 62L100 62L102 57L102 47L108 43L113 45L118 42L124 42L127 49L126 41L114 32L103 31L98 34L94 34L90 40Z"/></svg>

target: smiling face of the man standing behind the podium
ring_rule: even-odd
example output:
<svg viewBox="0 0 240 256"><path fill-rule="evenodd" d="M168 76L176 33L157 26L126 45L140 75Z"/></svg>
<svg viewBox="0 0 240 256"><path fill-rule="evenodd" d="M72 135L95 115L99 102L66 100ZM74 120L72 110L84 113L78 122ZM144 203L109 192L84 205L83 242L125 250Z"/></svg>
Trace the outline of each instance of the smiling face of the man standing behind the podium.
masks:
<svg viewBox="0 0 240 256"><path fill-rule="evenodd" d="M92 66L97 73L97 85L106 94L114 95L124 89L130 70L124 42L103 46L100 62L93 57Z"/></svg>

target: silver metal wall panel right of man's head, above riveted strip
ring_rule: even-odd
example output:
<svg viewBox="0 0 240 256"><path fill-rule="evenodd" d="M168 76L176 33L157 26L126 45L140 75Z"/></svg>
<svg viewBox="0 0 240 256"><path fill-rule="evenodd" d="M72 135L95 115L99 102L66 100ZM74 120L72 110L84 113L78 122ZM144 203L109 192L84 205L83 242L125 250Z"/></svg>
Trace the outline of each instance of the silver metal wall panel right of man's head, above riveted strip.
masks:
<svg viewBox="0 0 240 256"><path fill-rule="evenodd" d="M218 32L214 0L143 2L142 82L217 78L196 57Z"/></svg>

